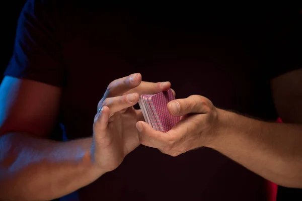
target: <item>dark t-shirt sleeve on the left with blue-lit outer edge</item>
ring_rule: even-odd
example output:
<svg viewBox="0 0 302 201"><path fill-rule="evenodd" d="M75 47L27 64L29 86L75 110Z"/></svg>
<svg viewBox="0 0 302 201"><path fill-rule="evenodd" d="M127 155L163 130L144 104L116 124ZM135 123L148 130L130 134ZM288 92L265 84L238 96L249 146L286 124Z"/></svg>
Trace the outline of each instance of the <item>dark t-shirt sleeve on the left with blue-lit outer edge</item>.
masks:
<svg viewBox="0 0 302 201"><path fill-rule="evenodd" d="M29 0L18 20L13 56L4 75L64 84L61 25L55 1Z"/></svg>

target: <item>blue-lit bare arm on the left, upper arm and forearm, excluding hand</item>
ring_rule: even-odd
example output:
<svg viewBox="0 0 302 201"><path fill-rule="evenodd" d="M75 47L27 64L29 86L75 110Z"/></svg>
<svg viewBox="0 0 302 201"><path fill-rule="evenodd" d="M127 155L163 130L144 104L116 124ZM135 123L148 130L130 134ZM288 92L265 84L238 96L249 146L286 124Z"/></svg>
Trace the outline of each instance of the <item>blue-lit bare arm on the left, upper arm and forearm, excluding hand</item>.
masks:
<svg viewBox="0 0 302 201"><path fill-rule="evenodd" d="M45 139L61 89L5 77L0 87L0 199L49 200L85 186L104 171L90 160L92 139Z"/></svg>

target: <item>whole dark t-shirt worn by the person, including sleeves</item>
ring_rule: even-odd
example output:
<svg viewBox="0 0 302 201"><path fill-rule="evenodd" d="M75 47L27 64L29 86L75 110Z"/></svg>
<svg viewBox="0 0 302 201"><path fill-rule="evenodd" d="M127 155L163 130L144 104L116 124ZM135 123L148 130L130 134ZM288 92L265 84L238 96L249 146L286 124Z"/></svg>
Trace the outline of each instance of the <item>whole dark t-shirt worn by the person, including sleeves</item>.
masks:
<svg viewBox="0 0 302 201"><path fill-rule="evenodd" d="M63 88L55 140L91 136L107 85L134 72L171 81L177 98L200 94L221 109L275 121L269 81L302 66L300 22L298 9L32 0L5 75ZM171 157L141 145L78 193L80 200L267 200L266 185L212 149Z"/></svg>

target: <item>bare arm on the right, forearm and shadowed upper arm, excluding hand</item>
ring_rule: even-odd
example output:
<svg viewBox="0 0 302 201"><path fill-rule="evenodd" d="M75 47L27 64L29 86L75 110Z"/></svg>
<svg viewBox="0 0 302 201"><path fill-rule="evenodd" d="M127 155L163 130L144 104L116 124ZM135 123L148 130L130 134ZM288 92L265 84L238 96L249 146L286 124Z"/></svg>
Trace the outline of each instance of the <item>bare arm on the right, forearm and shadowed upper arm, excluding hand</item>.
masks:
<svg viewBox="0 0 302 201"><path fill-rule="evenodd" d="M271 85L285 123L220 111L225 130L210 147L279 185L302 188L302 70L281 75Z"/></svg>

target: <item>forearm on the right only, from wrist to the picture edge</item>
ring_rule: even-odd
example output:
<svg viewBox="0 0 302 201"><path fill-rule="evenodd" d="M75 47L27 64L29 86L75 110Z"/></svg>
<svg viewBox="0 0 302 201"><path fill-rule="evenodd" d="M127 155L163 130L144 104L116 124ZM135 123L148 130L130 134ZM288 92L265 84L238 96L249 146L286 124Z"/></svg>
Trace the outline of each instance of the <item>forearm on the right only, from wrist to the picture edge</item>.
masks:
<svg viewBox="0 0 302 201"><path fill-rule="evenodd" d="M218 113L222 129L211 148L277 184L302 187L302 125Z"/></svg>

